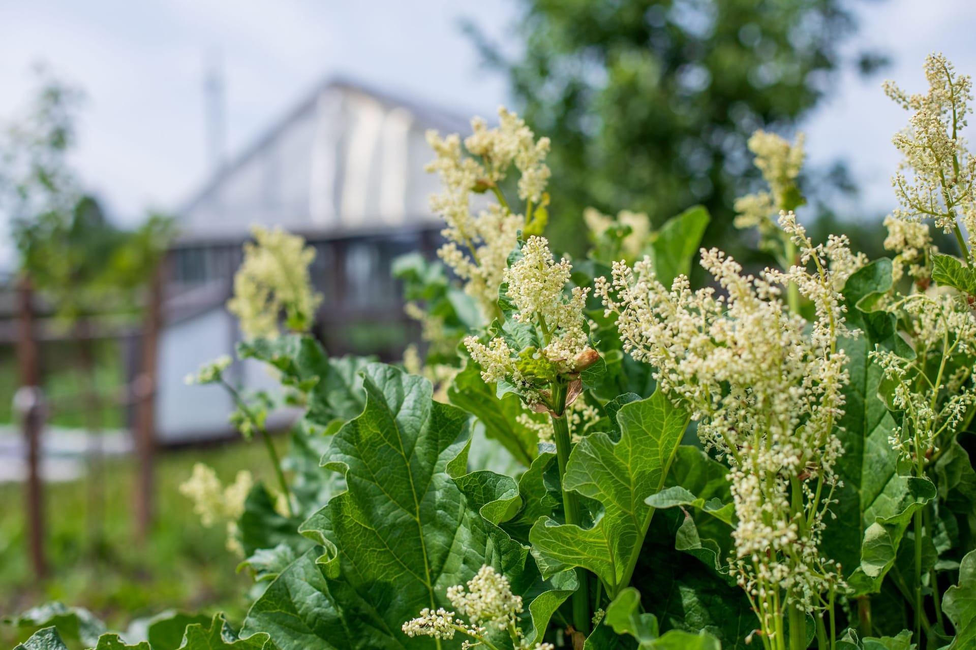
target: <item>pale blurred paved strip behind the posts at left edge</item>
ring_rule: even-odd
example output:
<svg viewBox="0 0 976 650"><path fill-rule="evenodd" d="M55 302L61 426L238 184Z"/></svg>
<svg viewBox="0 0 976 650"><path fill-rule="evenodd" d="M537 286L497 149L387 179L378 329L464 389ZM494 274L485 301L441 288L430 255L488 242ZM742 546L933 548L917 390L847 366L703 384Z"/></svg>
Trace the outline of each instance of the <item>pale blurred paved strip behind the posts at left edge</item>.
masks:
<svg viewBox="0 0 976 650"><path fill-rule="evenodd" d="M49 482L74 480L85 474L85 460L102 444L106 456L132 451L127 431L105 431L90 436L81 429L48 427L41 437L41 477ZM0 482L22 481L26 473L26 445L20 429L0 425Z"/></svg>

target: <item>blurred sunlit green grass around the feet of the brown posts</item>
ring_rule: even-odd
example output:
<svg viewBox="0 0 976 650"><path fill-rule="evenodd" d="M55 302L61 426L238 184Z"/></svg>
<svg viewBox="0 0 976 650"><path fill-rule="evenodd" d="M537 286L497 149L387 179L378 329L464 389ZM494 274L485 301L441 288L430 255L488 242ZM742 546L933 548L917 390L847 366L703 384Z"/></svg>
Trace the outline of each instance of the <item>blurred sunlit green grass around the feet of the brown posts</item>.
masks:
<svg viewBox="0 0 976 650"><path fill-rule="evenodd" d="M239 624L252 580L235 573L240 558L225 550L224 527L204 528L179 493L197 461L214 467L224 481L232 480L238 470L273 480L260 443L161 454L156 471L158 515L142 547L133 535L136 469L131 459L106 461L101 523L93 516L90 480L50 484L45 497L51 577L43 583L34 580L27 561L22 486L0 484L0 616L58 599L93 610L113 629L124 630L131 618L170 607L224 611ZM21 639L20 632L0 625L0 647L12 647Z"/></svg>

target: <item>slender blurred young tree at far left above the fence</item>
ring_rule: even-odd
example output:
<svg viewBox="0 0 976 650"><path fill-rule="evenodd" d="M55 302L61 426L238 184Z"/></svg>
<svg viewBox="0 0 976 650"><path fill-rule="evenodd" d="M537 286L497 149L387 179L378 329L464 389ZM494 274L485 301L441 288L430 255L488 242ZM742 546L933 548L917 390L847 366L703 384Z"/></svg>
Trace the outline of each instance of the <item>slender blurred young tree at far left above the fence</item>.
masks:
<svg viewBox="0 0 976 650"><path fill-rule="evenodd" d="M137 310L172 236L171 221L150 214L120 229L86 195L68 162L82 94L46 70L20 122L0 139L0 212L11 222L20 273L74 322Z"/></svg>

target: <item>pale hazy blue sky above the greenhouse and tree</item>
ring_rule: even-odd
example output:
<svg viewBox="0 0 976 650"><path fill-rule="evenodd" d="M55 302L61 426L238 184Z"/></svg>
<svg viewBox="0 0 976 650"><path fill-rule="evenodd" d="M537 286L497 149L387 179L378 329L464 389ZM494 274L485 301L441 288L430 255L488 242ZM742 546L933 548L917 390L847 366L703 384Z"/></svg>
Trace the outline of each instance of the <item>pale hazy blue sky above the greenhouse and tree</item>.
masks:
<svg viewBox="0 0 976 650"><path fill-rule="evenodd" d="M853 6L861 28L845 51L881 50L893 64L868 80L839 76L801 129L812 164L845 160L862 187L847 211L874 217L893 207L890 140L908 117L880 82L923 90L921 63L934 50L976 73L976 3ZM24 108L39 61L84 89L74 163L110 214L134 222L149 209L178 210L207 177L211 61L222 70L232 158L330 76L493 114L508 98L505 81L480 65L460 20L504 43L516 15L514 0L0 0L0 123Z"/></svg>

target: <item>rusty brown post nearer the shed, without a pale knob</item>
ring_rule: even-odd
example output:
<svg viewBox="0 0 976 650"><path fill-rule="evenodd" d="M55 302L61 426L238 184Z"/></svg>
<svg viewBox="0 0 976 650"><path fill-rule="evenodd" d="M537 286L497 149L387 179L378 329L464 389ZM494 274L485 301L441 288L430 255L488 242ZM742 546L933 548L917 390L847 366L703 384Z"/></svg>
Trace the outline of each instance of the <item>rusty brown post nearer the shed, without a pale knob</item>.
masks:
<svg viewBox="0 0 976 650"><path fill-rule="evenodd" d="M152 526L153 472L156 452L156 367L159 328L162 325L163 268L160 260L149 280L142 325L142 363L136 378L136 454L139 478L136 489L136 538L144 541Z"/></svg>

